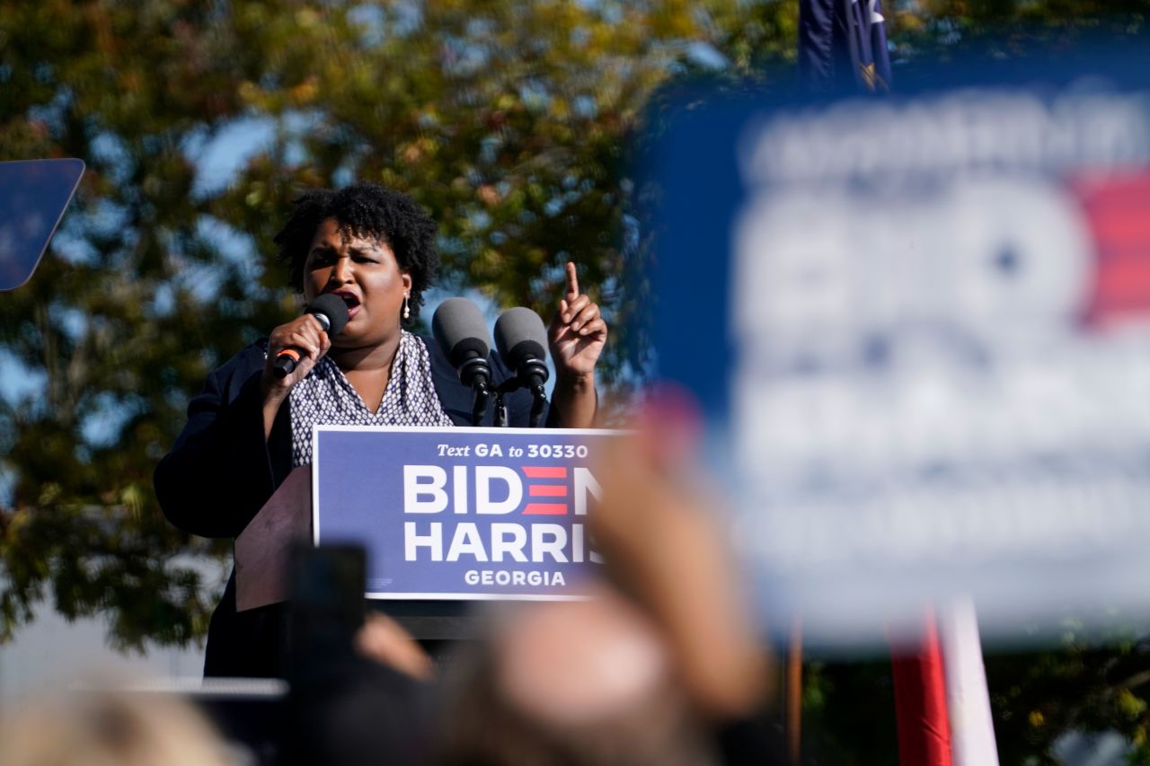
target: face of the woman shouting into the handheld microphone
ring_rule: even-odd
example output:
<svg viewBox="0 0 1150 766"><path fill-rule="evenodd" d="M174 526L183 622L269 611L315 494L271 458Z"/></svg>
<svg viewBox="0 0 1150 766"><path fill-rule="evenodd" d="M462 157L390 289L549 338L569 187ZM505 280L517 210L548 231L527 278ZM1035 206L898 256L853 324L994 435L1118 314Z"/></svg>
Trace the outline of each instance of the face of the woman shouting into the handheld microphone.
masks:
<svg viewBox="0 0 1150 766"><path fill-rule="evenodd" d="M335 219L315 229L304 262L304 297L332 293L347 304L347 325L332 345L379 345L399 334L399 313L412 277L391 247L371 237L345 236Z"/></svg>

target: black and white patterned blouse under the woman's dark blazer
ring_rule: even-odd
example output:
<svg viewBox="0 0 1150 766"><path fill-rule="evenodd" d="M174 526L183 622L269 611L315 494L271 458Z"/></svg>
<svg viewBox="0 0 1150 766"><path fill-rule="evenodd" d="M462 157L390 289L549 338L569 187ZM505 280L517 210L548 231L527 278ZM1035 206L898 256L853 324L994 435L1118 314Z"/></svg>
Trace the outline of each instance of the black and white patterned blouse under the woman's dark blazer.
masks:
<svg viewBox="0 0 1150 766"><path fill-rule="evenodd" d="M290 395L292 467L312 462L313 426L439 426L454 423L444 412L431 381L428 347L400 330L399 351L383 400L373 413L343 370L323 357Z"/></svg>

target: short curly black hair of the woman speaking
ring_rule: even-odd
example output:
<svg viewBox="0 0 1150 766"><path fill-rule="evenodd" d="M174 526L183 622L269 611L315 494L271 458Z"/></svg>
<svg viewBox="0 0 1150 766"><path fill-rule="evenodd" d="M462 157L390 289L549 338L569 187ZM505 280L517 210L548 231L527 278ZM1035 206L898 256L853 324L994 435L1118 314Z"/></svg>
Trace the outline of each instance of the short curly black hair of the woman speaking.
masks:
<svg viewBox="0 0 1150 766"><path fill-rule="evenodd" d="M288 265L291 283L304 290L304 262L323 221L335 219L340 231L375 237L396 253L399 268L412 277L408 305L412 320L420 315L423 291L435 278L439 255L435 250L436 224L407 194L376 184L352 184L340 190L316 189L292 200L288 223L275 237L276 260Z"/></svg>

